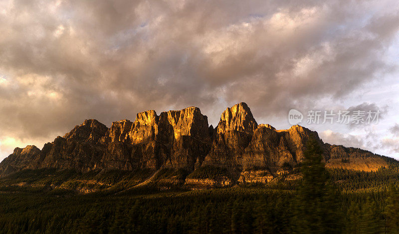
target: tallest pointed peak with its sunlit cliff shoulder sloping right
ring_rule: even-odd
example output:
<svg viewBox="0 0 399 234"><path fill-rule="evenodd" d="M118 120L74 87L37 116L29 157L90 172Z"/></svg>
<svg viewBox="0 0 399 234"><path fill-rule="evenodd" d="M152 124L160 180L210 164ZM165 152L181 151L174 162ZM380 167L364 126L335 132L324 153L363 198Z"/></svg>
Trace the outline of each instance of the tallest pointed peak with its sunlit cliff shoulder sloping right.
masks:
<svg viewBox="0 0 399 234"><path fill-rule="evenodd" d="M275 130L258 126L249 107L239 103L227 108L213 134L212 148L203 164L242 170L268 169L272 173L284 164L295 165L303 159L306 141L316 132L292 126Z"/></svg>

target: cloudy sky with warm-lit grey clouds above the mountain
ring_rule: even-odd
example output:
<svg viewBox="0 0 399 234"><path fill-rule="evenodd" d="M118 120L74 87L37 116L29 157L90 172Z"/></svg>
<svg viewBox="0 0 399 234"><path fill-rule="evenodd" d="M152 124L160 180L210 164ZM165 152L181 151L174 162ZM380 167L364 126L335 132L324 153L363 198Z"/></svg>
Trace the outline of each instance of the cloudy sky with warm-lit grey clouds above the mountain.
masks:
<svg viewBox="0 0 399 234"><path fill-rule="evenodd" d="M399 159L398 31L398 0L0 0L0 160L88 118L194 105L216 125L241 101L278 129L292 108L380 111L302 125Z"/></svg>

